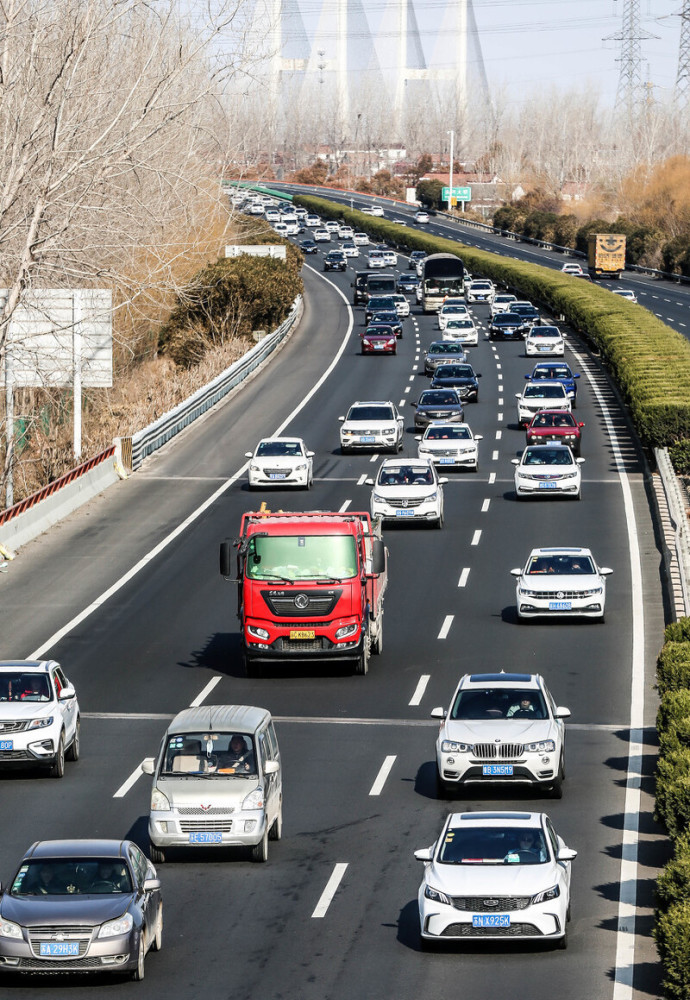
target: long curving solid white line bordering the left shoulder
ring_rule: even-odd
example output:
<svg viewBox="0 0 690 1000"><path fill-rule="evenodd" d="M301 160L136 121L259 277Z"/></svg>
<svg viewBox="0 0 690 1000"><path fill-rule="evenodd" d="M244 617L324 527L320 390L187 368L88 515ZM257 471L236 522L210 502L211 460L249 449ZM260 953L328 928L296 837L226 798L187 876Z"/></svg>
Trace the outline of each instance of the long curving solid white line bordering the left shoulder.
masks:
<svg viewBox="0 0 690 1000"><path fill-rule="evenodd" d="M306 266L308 267L309 265ZM304 399L302 399L297 404L292 413L289 413L288 416L285 418L285 420L282 422L282 424L278 428L276 428L273 435L270 435L272 437L279 437L285 430L285 428L288 426L288 424L290 424L290 422L294 420L297 414L304 409L304 407L307 405L310 399L321 388L323 383L326 381L328 376L331 374L335 366L340 361L340 358L342 357L343 352L347 347L347 343L348 340L350 339L350 334L352 333L352 328L354 326L354 313L352 312L352 307L350 303L347 301L347 297L343 294L343 292L341 292L341 290L334 282L324 277L322 274L320 274L319 271L314 270L314 268L310 268L310 270L314 271L314 274L318 274L323 281L327 282L332 288L334 288L335 291L340 296L340 298L345 303L345 305L347 306L347 312L348 312L347 330L345 331L345 336L340 342L340 347L335 352L333 360L331 361L326 371L314 383L314 385L311 387L311 389L306 394ZM204 500L204 502L199 507L197 507L196 510L192 511L192 513L188 517L186 517L184 521L178 524L178 526L173 531L171 531L169 535L166 535L166 537L163 538L158 543L158 545L155 545L149 552L147 552L146 555L139 560L139 562L135 563L135 565L132 566L132 568L128 570L125 574L123 574L123 576L121 576L119 580L116 580L111 587L108 587L107 590L104 590L103 593L99 597L97 597L92 604L89 604L88 607L84 608L84 610L81 611L78 615L75 615L75 617L72 618L71 621L68 621L67 624L63 625L61 629L58 629L57 632L54 632L49 639L47 639L44 643L42 643L42 645L38 647L38 649L35 649L32 653L29 653L27 659L29 660L42 659L49 649L52 649L52 647L55 646L61 639L63 639L66 635L69 635L70 632L73 632L78 625L81 625L81 623L85 621L90 615L92 615L94 611L97 611L103 604L105 604L106 601L110 600L110 598L114 594L116 594L127 583L129 583L131 579L137 576L137 574L140 573L142 569L148 566L150 562L152 562L157 556L159 556L160 553L163 552L168 547L168 545L171 545L172 542L174 542L176 538L178 538L184 531L186 531L190 525L194 524L194 522L198 518L200 518L201 515L204 514L209 509L209 507L213 506L216 500L222 497L223 494L226 493L230 489L230 487L233 486L237 482L237 480L244 475L244 473L247 471L248 464L249 464L248 462L245 462L244 465L240 466L240 468L233 476L231 476L228 480L226 480L226 482L224 482L221 486L219 486L218 489L215 491L215 493L212 493L210 497Z"/></svg>

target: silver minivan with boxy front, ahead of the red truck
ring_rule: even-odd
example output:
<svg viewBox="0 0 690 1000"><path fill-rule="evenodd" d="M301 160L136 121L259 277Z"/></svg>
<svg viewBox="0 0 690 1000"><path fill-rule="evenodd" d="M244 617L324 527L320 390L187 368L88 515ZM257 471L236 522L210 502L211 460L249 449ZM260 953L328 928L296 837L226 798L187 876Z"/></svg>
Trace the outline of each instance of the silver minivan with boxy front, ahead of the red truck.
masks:
<svg viewBox="0 0 690 1000"><path fill-rule="evenodd" d="M266 861L269 839L282 836L280 751L265 708L185 709L142 770L153 775L154 864L165 861L171 847L249 847L253 861Z"/></svg>

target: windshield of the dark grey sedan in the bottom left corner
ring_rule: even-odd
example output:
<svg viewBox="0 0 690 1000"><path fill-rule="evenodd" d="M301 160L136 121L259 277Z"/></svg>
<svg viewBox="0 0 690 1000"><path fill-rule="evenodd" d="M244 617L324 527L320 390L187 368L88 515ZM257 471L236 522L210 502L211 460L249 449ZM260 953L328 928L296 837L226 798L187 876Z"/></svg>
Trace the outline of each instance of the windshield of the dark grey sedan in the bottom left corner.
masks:
<svg viewBox="0 0 690 1000"><path fill-rule="evenodd" d="M25 861L12 882L12 896L86 896L132 892L122 858L36 858Z"/></svg>

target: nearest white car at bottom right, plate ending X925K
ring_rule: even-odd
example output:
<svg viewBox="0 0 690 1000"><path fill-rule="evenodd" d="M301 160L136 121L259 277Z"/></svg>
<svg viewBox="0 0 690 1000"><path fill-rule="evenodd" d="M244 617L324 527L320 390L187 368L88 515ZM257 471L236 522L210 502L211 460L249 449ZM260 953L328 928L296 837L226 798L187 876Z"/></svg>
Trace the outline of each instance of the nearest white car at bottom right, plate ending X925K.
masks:
<svg viewBox="0 0 690 1000"><path fill-rule="evenodd" d="M545 813L450 813L424 862L422 945L503 938L567 946L570 863Z"/></svg>

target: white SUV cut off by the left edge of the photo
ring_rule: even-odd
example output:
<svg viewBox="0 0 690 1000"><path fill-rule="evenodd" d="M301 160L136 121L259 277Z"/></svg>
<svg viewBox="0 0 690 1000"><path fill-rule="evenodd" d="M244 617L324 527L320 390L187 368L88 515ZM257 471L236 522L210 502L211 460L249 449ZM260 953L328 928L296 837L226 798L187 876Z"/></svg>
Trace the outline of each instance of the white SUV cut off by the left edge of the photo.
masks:
<svg viewBox="0 0 690 1000"><path fill-rule="evenodd" d="M0 660L0 767L47 767L65 773L79 759L80 717L74 687L55 660Z"/></svg>

